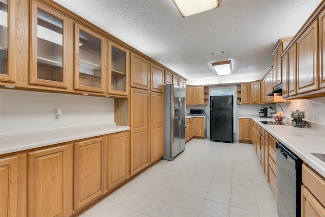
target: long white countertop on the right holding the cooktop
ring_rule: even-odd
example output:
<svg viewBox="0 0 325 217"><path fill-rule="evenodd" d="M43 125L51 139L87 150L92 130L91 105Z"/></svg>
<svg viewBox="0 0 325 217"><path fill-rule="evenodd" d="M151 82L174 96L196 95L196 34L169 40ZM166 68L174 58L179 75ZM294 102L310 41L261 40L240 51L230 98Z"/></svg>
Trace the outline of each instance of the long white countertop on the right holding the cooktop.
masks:
<svg viewBox="0 0 325 217"><path fill-rule="evenodd" d="M272 118L239 116L251 118L284 146L294 152L304 162L325 177L325 163L310 153L325 153L325 131L313 128L295 128L290 125L265 125L260 120L274 121Z"/></svg>

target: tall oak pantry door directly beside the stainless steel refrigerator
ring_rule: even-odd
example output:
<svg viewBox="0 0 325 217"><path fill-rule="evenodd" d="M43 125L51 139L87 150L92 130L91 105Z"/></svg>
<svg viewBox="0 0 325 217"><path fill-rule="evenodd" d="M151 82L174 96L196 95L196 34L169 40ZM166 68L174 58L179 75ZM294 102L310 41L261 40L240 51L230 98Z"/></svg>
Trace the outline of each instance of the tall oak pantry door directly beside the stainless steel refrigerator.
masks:
<svg viewBox="0 0 325 217"><path fill-rule="evenodd" d="M164 156L164 95L150 94L150 162Z"/></svg>

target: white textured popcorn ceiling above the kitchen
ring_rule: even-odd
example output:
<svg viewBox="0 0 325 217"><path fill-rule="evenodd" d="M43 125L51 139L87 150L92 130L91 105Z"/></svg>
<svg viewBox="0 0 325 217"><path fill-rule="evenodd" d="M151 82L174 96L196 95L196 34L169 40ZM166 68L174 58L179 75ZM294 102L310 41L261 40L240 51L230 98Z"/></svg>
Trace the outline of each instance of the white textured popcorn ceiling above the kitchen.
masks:
<svg viewBox="0 0 325 217"><path fill-rule="evenodd" d="M218 81L211 63L232 60L232 78L258 78L280 38L294 36L321 0L223 0L183 18L172 0L55 0L190 81ZM224 50L225 54L211 55ZM223 79L224 80L224 79ZM211 82L210 82L211 83Z"/></svg>

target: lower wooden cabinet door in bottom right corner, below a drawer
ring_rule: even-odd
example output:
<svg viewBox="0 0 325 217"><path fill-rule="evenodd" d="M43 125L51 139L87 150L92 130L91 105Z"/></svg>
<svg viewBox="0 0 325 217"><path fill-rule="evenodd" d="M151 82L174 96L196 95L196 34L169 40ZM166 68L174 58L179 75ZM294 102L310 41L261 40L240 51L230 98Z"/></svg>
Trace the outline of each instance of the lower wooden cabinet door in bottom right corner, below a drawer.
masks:
<svg viewBox="0 0 325 217"><path fill-rule="evenodd" d="M325 216L325 208L308 191L308 189L304 187L304 185L301 186L301 216L302 217Z"/></svg>

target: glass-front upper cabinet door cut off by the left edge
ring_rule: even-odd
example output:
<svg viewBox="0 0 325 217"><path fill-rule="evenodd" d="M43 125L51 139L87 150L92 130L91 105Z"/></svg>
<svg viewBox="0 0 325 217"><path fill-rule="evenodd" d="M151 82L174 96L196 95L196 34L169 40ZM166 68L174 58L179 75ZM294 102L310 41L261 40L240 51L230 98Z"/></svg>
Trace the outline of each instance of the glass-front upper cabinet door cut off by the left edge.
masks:
<svg viewBox="0 0 325 217"><path fill-rule="evenodd" d="M16 82L16 1L1 2L0 80ZM10 40L9 40L10 39Z"/></svg>

